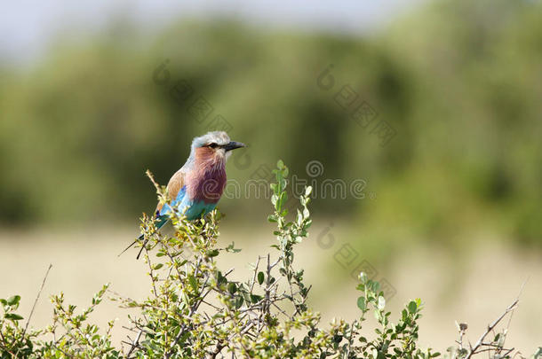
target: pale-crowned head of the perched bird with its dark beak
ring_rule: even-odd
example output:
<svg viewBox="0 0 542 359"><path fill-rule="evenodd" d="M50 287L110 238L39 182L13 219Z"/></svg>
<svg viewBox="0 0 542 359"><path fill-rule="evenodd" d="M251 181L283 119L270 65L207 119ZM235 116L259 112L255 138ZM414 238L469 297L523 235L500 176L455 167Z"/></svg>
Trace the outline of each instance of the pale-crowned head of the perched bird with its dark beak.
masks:
<svg viewBox="0 0 542 359"><path fill-rule="evenodd" d="M194 141L192 141L191 156L227 160L232 150L241 147L246 147L246 144L231 141L226 132L211 131L203 136L194 138Z"/></svg>

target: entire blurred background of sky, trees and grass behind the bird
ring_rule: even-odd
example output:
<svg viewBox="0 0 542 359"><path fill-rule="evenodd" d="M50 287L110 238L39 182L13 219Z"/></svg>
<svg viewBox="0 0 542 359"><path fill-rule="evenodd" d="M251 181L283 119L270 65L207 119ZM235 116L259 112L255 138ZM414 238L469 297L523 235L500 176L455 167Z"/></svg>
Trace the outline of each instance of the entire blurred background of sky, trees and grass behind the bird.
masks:
<svg viewBox="0 0 542 359"><path fill-rule="evenodd" d="M116 257L154 208L144 172L166 183L193 137L227 129L250 144L227 168L242 185L278 159L366 183L312 203L299 265L326 320L355 316L369 269L392 308L426 302L420 341L445 350L454 320L474 341L527 280L508 340L542 344L540 2L20 2L0 19L0 297L28 313L52 263L32 324L50 293L145 295L135 251ZM238 197L219 207L243 277L274 238L268 200ZM95 319L118 316L120 341L126 314Z"/></svg>

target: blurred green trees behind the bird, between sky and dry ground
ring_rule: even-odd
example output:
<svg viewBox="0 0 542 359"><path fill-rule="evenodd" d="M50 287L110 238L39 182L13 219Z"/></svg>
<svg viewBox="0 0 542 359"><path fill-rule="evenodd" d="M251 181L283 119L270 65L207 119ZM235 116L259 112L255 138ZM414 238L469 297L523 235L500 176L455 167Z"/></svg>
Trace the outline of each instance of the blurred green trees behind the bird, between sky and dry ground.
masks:
<svg viewBox="0 0 542 359"><path fill-rule="evenodd" d="M350 236L374 229L373 246L465 244L483 231L540 247L541 11L445 0L363 37L231 20L182 20L149 36L122 19L83 43L60 35L44 59L0 65L0 219L135 224L155 203L144 171L166 183L220 114L251 146L228 164L240 183L279 158L302 178L319 160L318 180L365 179L376 199L315 199L314 208L347 218ZM323 90L317 79L331 64L334 86ZM189 100L171 94L180 81L194 90ZM335 102L346 84L396 130L389 144ZM200 96L214 108L204 121L188 111ZM267 199L220 207L245 223L270 209Z"/></svg>

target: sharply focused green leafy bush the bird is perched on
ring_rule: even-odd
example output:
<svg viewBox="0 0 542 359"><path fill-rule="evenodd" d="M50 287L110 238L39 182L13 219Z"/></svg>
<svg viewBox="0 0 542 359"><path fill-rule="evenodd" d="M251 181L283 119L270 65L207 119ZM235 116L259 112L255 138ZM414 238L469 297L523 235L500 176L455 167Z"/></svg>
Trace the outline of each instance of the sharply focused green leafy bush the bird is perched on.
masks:
<svg viewBox="0 0 542 359"><path fill-rule="evenodd" d="M78 313L64 303L63 294L52 297L52 325L27 331L15 313L20 297L0 300L0 353L2 358L432 358L440 354L417 347L421 300L411 300L396 323L386 310L379 283L360 274L357 290L359 317L350 323L334 320L322 326L321 317L307 306L310 285L303 270L294 268L294 249L311 225L307 204L311 188L300 200L300 209L289 221L283 207L287 200L288 168L279 161L268 220L276 223L275 255L259 256L251 277L231 279L233 269L218 268L221 252L239 252L235 244L217 246L218 211L206 218L187 222L179 212L171 214L173 236L164 236L153 220L144 216L141 230L147 238L145 263L150 277L150 295L132 300L112 293L121 307L139 308L129 316L132 334L124 347L114 347L109 322L105 332L88 323L88 315L100 304L108 285L92 299L92 305ZM152 179L152 176L151 176ZM154 179L153 179L153 183ZM159 200L167 202L164 187L156 183ZM514 308L515 308L514 303ZM513 310L514 308L509 308ZM377 327L364 323L372 312ZM506 314L508 313L508 309ZM461 327L465 332L466 328ZM371 333L371 332L374 332ZM376 334L376 335L375 335ZM462 334L461 334L462 338ZM459 342L458 342L459 343ZM462 342L461 342L462 343ZM493 357L507 357L502 337L491 342ZM450 356L465 358L474 350L450 348ZM508 353L509 354L509 353ZM499 356L500 355L500 356ZM539 356L539 353L538 353ZM536 356L536 357L538 357Z"/></svg>

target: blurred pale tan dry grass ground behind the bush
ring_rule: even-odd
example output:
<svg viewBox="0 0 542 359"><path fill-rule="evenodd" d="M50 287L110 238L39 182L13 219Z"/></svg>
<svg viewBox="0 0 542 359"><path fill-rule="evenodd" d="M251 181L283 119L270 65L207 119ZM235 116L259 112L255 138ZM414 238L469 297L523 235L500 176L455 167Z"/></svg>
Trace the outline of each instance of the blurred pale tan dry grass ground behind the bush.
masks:
<svg viewBox="0 0 542 359"><path fill-rule="evenodd" d="M63 291L67 301L79 306L90 303L92 294L110 282L111 289L125 296L140 298L148 293L146 265L135 261L136 251L116 256L133 238L136 229L72 231L1 231L0 297L18 293L22 296L20 313L28 316L36 292L49 263L53 268L44 287L32 325L50 323L52 307L48 296ZM235 277L243 278L247 263L258 254L271 250L273 238L263 229L222 226L224 244L235 240L241 254L220 256L224 267L235 267ZM319 233L322 228L313 229ZM389 307L397 309L410 298L420 297L426 304L421 321L420 344L445 350L456 339L454 321L469 324L468 338L475 341L486 324L514 300L522 282L530 277L522 293L520 307L514 313L507 342L530 355L542 345L542 261L538 253L519 253L506 246L479 244L464 258L461 266L445 252L418 248L399 255L391 268L382 271L395 286L395 297ZM315 244L314 238L303 243L296 260L306 269L307 283L314 285L311 305L324 313L326 321L333 316L351 318L357 315L355 280L333 261L332 253ZM385 272L385 273L384 273ZM128 310L104 302L92 315L98 323L119 318L114 332L116 341L124 339Z"/></svg>

